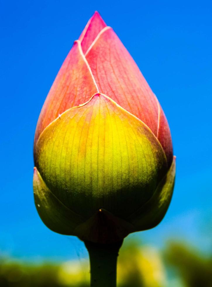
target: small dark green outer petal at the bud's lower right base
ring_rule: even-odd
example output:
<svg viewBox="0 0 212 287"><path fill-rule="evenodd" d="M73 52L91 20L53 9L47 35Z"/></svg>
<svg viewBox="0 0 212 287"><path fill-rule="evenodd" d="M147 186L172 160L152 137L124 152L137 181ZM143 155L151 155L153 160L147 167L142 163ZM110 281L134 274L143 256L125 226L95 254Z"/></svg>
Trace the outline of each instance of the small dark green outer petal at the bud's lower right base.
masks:
<svg viewBox="0 0 212 287"><path fill-rule="evenodd" d="M134 232L155 227L165 216L173 194L175 170L176 157L174 156L169 171L158 184L153 197L128 218L135 226Z"/></svg>

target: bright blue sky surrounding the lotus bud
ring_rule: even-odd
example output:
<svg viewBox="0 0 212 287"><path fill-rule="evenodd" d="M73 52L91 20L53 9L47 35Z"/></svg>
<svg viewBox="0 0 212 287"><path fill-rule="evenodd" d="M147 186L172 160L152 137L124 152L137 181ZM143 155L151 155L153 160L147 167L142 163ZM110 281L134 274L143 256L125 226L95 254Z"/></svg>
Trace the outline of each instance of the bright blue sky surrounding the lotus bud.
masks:
<svg viewBox="0 0 212 287"><path fill-rule="evenodd" d="M53 233L37 214L32 145L49 88L95 10L113 27L161 102L177 156L165 219L136 236L156 246L170 237L184 238L208 250L212 2L2 1L0 255L63 260L86 254L80 240Z"/></svg>

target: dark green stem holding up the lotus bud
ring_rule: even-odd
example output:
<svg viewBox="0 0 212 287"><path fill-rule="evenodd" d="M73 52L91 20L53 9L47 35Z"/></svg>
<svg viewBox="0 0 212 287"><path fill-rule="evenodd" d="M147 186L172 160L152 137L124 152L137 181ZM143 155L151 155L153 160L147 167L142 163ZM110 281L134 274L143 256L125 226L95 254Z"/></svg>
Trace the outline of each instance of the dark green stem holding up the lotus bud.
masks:
<svg viewBox="0 0 212 287"><path fill-rule="evenodd" d="M90 258L92 287L116 287L118 251L123 240L112 244L85 241Z"/></svg>

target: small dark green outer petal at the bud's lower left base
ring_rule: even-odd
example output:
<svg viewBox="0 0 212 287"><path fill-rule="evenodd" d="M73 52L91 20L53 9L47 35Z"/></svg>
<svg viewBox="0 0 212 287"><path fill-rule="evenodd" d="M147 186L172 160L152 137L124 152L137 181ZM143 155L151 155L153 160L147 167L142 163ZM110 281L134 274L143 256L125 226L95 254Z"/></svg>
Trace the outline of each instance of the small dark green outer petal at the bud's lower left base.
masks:
<svg viewBox="0 0 212 287"><path fill-rule="evenodd" d="M35 206L44 224L57 233L75 235L75 228L84 220L51 193L37 168L34 168L33 189Z"/></svg>

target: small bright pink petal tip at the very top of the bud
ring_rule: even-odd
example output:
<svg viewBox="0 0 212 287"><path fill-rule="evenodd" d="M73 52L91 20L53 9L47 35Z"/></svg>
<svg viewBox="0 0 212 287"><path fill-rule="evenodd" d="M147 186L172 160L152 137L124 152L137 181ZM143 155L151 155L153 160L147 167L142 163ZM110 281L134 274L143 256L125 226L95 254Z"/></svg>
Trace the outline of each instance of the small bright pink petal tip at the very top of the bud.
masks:
<svg viewBox="0 0 212 287"><path fill-rule="evenodd" d="M104 20L101 18L99 13L95 11L94 15L90 18L79 37L83 53L87 51L89 46L95 40L96 36L104 27L106 27Z"/></svg>

